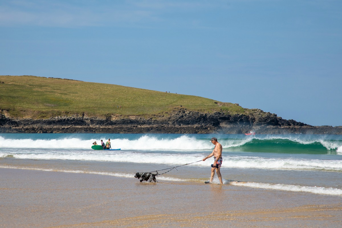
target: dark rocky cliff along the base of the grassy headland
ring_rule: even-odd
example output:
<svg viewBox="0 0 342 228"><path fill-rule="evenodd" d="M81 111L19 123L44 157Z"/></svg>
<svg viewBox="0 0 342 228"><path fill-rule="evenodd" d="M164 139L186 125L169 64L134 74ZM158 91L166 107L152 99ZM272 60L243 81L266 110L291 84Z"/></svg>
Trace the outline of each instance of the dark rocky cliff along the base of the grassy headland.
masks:
<svg viewBox="0 0 342 228"><path fill-rule="evenodd" d="M254 129L258 134L342 134L342 126L311 126L276 114L250 109L248 114L201 113L178 108L165 115L111 116L106 119L73 115L50 119L14 119L0 114L0 133L230 133Z"/></svg>

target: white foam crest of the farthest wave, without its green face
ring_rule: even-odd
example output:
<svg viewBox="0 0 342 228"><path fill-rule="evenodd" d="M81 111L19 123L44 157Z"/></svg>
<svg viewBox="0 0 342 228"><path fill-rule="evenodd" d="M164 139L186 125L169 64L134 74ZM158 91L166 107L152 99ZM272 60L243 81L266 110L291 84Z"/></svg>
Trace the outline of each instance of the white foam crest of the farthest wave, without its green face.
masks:
<svg viewBox="0 0 342 228"><path fill-rule="evenodd" d="M257 136L246 137L241 139L222 139L220 143L223 148L239 147L251 142L253 139L258 140L276 140L288 139L300 144L313 144L318 142L328 150L337 149L342 153L342 145L340 141L324 140L324 139L301 139L294 136ZM16 148L90 148L92 143L99 139L79 139L79 138L63 138L63 139L9 139L0 136L0 147L16 147ZM213 146L204 139L196 139L188 135L170 138L158 138L150 135L143 135L138 139L112 138L112 148L121 148L124 150L211 150Z"/></svg>

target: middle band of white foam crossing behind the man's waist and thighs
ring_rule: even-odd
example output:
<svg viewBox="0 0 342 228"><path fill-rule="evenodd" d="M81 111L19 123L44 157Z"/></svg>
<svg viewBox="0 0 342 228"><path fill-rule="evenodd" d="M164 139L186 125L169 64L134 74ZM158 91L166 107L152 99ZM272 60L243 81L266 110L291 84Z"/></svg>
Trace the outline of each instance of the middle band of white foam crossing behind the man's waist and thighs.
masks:
<svg viewBox="0 0 342 228"><path fill-rule="evenodd" d="M157 163L181 165L196 162L190 165L210 166L213 158L202 160L207 153L146 153L146 152L16 152L0 153L0 158L11 156L19 159L62 159L62 160L88 160L130 163ZM224 156L222 167L253 168L253 169L289 169L289 170L325 170L342 171L342 160L320 159L291 159L291 158L263 158L248 156Z"/></svg>

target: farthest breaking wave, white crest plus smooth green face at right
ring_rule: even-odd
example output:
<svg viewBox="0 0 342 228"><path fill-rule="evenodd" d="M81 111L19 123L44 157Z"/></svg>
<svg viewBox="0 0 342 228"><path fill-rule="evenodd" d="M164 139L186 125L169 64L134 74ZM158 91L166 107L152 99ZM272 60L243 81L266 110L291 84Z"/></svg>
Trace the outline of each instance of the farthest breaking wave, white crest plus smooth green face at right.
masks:
<svg viewBox="0 0 342 228"><path fill-rule="evenodd" d="M189 135L182 135L176 138L142 135L137 139L121 136L120 138L112 138L111 145L112 148L121 148L123 150L208 151L212 149L212 144L209 143L209 140L209 138L196 138ZM0 136L0 147L87 149L92 146L94 141L100 143L100 140L95 138L11 139ZM308 154L334 152L342 154L342 140L324 138L301 139L294 136L252 136L244 138L219 138L219 142L222 144L224 151Z"/></svg>

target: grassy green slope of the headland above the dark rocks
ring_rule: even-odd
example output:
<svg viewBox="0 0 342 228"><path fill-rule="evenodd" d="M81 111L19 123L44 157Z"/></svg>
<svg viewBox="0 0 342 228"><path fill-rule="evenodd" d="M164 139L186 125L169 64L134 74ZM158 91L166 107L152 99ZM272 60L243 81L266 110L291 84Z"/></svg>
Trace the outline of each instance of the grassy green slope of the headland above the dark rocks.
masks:
<svg viewBox="0 0 342 228"><path fill-rule="evenodd" d="M3 82L3 83L2 83ZM121 108L117 108L120 106ZM82 82L36 76L0 76L0 109L10 117L45 119L85 113L106 115L167 115L177 107L200 112L246 113L232 103L131 88L121 85Z"/></svg>

